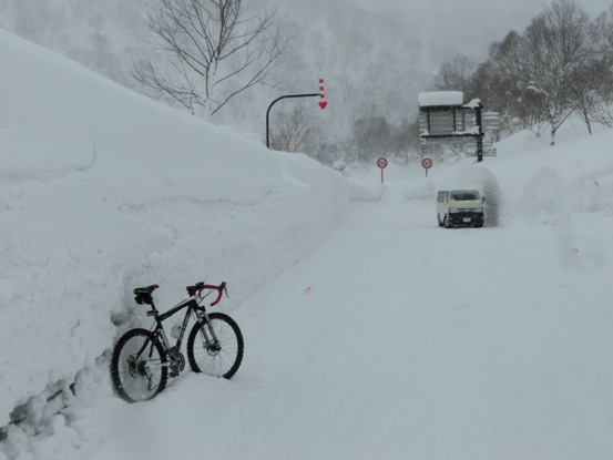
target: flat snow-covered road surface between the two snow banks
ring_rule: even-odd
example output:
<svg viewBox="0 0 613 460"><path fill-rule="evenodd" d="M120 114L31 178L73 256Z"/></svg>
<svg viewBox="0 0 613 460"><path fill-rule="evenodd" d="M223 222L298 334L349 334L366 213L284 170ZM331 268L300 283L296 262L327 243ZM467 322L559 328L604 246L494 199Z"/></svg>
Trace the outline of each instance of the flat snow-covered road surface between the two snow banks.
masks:
<svg viewBox="0 0 613 460"><path fill-rule="evenodd" d="M186 371L129 406L101 377L73 453L610 458L609 235L438 228L431 201L391 184L232 313L246 347L233 380Z"/></svg>

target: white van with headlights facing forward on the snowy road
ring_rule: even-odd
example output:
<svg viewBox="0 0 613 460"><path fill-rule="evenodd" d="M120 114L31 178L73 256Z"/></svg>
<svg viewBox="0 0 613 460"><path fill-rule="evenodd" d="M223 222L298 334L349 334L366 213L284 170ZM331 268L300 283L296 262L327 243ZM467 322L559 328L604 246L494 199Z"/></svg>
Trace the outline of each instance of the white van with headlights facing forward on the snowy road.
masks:
<svg viewBox="0 0 613 460"><path fill-rule="evenodd" d="M452 190L437 194L437 219L439 227L483 226L483 202L479 191Z"/></svg>

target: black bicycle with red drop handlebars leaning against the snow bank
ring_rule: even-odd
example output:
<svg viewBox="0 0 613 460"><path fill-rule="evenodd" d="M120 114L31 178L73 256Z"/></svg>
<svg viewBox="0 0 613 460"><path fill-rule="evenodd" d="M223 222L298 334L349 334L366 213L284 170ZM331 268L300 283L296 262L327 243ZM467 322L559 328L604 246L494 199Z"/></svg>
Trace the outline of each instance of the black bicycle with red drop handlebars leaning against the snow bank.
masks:
<svg viewBox="0 0 613 460"><path fill-rule="evenodd" d="M139 305L149 305L146 315L153 317L150 330L131 329L118 340L111 357L111 380L116 393L127 402L146 401L166 387L168 376L177 377L185 368L185 357L181 344L190 319L195 324L187 337L187 360L194 372L232 378L243 360L243 334L238 325L223 313L207 313L205 298L216 293L214 307L227 297L226 283L207 285L196 283L187 286L188 298L180 301L170 310L161 314L153 301L152 293L159 285L137 287L134 300ZM171 336L176 339L172 345L162 323L186 309L183 323L173 327Z"/></svg>

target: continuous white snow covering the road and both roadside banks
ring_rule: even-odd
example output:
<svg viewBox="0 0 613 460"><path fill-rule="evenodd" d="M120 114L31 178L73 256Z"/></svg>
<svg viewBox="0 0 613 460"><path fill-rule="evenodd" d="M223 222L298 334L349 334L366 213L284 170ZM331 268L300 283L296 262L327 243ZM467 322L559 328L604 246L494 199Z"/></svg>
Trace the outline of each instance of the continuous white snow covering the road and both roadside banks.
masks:
<svg viewBox="0 0 613 460"><path fill-rule="evenodd" d="M0 459L613 457L613 132L381 184L4 32L0 57L0 426L27 408ZM451 188L486 227L437 226ZM126 405L108 356L149 324L132 289L165 309L197 280L228 283L241 369Z"/></svg>

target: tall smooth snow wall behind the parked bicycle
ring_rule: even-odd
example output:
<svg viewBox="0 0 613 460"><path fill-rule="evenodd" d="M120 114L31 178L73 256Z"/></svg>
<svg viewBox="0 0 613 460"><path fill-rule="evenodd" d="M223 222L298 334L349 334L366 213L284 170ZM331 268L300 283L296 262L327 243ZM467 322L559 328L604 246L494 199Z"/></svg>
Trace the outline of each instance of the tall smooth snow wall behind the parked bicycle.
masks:
<svg viewBox="0 0 613 460"><path fill-rule="evenodd" d="M350 182L306 156L2 31L0 58L0 426L141 318L134 287L160 284L164 308L226 280L235 308L345 215Z"/></svg>

